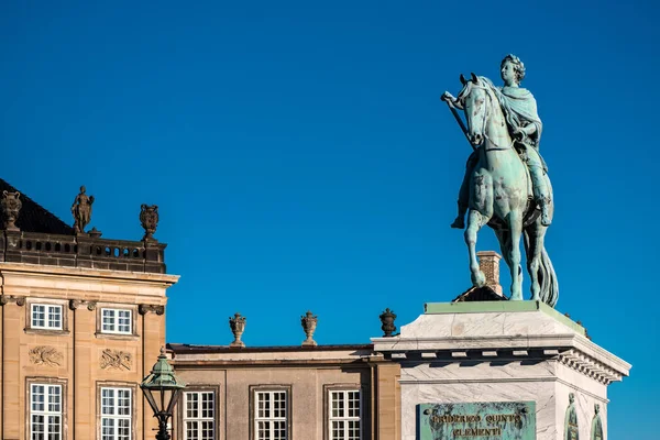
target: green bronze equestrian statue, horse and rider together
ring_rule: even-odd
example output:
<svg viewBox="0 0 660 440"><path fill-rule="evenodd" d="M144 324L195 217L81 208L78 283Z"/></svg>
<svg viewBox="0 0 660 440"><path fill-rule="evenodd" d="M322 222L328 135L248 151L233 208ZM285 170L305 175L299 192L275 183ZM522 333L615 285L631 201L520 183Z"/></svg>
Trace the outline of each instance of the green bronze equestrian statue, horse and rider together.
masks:
<svg viewBox="0 0 660 440"><path fill-rule="evenodd" d="M543 240L552 222L552 186L548 167L539 153L543 124L536 99L520 87L525 65L507 55L501 65L504 87L472 74L458 98L444 92L446 101L473 147L459 193L459 216L452 228L465 228L472 284L485 285L476 258L476 235L488 224L495 231L502 254L512 273L509 299L522 299L520 237L525 238L531 299L551 307L559 288ZM464 110L468 127L455 109Z"/></svg>

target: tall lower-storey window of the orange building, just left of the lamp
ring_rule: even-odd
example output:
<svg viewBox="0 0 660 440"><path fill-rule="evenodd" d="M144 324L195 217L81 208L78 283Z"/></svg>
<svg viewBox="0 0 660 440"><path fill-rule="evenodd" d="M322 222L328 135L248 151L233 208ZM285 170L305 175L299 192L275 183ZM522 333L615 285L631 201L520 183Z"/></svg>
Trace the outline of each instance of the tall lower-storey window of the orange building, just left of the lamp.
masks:
<svg viewBox="0 0 660 440"><path fill-rule="evenodd" d="M131 388L101 388L101 440L131 440Z"/></svg>

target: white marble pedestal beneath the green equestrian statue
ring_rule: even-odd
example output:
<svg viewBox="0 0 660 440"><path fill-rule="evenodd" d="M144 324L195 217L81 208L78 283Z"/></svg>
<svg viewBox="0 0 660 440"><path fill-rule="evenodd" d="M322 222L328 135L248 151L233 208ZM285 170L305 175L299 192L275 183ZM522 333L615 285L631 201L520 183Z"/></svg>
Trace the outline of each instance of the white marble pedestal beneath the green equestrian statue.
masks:
<svg viewBox="0 0 660 440"><path fill-rule="evenodd" d="M425 309L399 336L372 339L402 366L402 440L416 439L419 404L490 402L535 402L536 439L564 440L571 393L579 438L592 438L595 404L607 438L607 386L630 365L590 341L584 328L538 301Z"/></svg>

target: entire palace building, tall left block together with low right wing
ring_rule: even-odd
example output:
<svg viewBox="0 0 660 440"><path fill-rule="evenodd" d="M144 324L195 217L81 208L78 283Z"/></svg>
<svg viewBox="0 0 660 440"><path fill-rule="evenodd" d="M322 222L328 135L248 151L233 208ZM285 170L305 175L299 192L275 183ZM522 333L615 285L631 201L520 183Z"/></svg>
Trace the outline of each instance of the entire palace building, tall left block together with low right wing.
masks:
<svg viewBox="0 0 660 440"><path fill-rule="evenodd" d="M0 433L3 440L145 440L140 383L165 345L165 244L142 207L140 241L69 227L0 179ZM154 215L155 212L155 215ZM168 345L188 387L174 439L399 439L398 364L371 344Z"/></svg>

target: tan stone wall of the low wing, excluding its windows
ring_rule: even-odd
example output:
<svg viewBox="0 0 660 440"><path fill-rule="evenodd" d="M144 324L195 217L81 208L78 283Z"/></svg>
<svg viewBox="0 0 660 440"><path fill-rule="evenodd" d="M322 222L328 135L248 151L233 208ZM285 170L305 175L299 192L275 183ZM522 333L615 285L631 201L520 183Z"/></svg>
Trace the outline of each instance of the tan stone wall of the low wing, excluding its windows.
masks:
<svg viewBox="0 0 660 440"><path fill-rule="evenodd" d="M373 355L370 345L324 348L230 349L183 353L174 350L177 376L186 391L217 393L218 439L254 438L254 392L282 388L289 393L290 437L328 438L328 393L336 388L361 389L362 438L398 440L400 407L398 364ZM183 438L183 405L175 432Z"/></svg>

